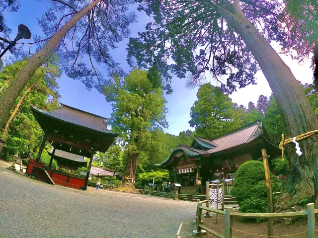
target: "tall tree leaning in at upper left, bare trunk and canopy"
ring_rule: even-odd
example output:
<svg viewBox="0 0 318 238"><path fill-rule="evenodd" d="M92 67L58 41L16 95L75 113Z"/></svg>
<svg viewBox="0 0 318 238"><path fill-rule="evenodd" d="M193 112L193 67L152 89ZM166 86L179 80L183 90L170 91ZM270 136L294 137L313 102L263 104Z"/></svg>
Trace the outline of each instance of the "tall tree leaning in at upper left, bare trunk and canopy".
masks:
<svg viewBox="0 0 318 238"><path fill-rule="evenodd" d="M66 74L82 80L88 88L103 85L103 77L97 71L100 64L103 66L99 68L110 74L121 73L109 50L129 34L128 26L135 21L135 14L128 12L133 0L51 1L51 8L39 20L45 38L36 36L35 42L22 44L40 44L39 51L0 96L0 125L29 78L55 52L60 55ZM97 83L93 79L97 79Z"/></svg>

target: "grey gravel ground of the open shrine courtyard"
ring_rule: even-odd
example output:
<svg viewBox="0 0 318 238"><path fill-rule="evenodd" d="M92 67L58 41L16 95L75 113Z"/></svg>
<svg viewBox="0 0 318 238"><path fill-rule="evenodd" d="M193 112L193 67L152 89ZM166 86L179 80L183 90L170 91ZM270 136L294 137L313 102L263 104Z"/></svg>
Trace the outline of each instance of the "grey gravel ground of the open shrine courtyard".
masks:
<svg viewBox="0 0 318 238"><path fill-rule="evenodd" d="M195 209L187 201L54 186L0 166L0 238L175 238L181 222L191 230Z"/></svg>

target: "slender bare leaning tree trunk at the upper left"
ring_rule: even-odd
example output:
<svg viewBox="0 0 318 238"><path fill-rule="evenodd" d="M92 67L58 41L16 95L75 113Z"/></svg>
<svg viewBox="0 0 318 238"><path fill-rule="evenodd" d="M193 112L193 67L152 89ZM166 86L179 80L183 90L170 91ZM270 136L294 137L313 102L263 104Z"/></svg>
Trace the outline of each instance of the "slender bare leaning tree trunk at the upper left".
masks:
<svg viewBox="0 0 318 238"><path fill-rule="evenodd" d="M10 84L10 86L0 97L0 125L4 123L6 115L14 103L14 100L19 96L21 90L25 87L26 83L34 74L36 69L54 52L63 37L72 29L72 27L75 26L79 19L86 15L87 12L90 11L100 1L101 0L95 0L77 12L71 18L71 20L65 23L65 25L52 36L52 38L43 46L41 50L36 52L30 58L25 67L18 74L17 78Z"/></svg>

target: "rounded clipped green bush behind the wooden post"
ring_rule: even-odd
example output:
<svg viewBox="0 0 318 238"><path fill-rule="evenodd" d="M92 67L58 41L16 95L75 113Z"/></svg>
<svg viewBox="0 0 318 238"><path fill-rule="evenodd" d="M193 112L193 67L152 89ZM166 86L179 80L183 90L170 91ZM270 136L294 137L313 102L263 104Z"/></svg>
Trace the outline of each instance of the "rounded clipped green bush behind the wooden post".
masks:
<svg viewBox="0 0 318 238"><path fill-rule="evenodd" d="M279 182L271 173L272 192L279 190ZM267 188L265 181L264 164L261 161L251 160L239 166L233 182L232 196L239 203L239 212L266 213Z"/></svg>

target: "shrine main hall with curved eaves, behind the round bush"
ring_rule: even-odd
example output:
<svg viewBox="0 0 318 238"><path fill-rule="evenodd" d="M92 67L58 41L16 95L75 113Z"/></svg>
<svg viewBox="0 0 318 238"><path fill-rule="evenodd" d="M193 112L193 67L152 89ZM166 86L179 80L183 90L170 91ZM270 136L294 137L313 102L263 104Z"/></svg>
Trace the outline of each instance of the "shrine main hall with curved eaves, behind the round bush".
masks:
<svg viewBox="0 0 318 238"><path fill-rule="evenodd" d="M269 168L274 173L273 159L281 150L273 145L263 123L255 121L213 139L195 136L191 146L179 145L159 168L169 170L169 178L183 187L206 181L235 178L239 166L262 157L266 149Z"/></svg>

